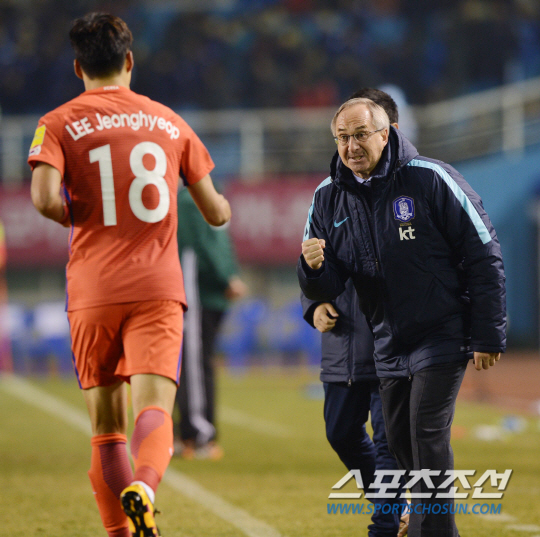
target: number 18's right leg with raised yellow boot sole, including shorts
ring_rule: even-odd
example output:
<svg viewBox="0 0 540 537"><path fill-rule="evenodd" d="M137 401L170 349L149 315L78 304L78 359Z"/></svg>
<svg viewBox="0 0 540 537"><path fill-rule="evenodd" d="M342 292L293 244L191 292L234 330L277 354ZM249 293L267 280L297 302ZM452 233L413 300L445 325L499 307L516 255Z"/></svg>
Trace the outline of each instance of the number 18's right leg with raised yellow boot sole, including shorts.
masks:
<svg viewBox="0 0 540 537"><path fill-rule="evenodd" d="M153 505L173 453L171 414L178 386L182 325L181 304L162 300L131 304L123 326L125 353L116 373L131 381L135 474L121 500L137 537L159 536Z"/></svg>

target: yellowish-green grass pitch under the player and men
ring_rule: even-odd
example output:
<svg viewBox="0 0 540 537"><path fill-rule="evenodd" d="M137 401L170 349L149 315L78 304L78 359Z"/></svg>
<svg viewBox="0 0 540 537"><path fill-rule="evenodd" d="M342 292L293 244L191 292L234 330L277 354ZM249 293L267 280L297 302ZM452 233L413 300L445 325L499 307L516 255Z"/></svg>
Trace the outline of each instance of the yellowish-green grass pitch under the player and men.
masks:
<svg viewBox="0 0 540 537"><path fill-rule="evenodd" d="M85 412L74 379L30 379L33 386ZM273 528L282 537L365 536L369 516L328 514L331 487L345 468L324 435L316 373L305 369L250 370L218 379L218 462L173 459L171 468ZM86 475L89 437L59 417L21 401L0 380L1 535L96 537L105 535ZM540 419L523 416L522 430L504 432L511 411L458 402L452 442L456 468L513 470L501 515L458 515L462 536L540 537ZM501 436L479 440L479 426ZM474 481L471 480L471 483ZM355 490L348 483L344 491ZM484 489L493 492L490 487ZM361 500L362 502L364 500ZM465 500L474 503L473 500ZM205 500L163 482L156 506L164 537L249 535ZM244 529L242 529L244 528ZM255 528L252 537L267 537ZM268 534L270 535L270 534Z"/></svg>

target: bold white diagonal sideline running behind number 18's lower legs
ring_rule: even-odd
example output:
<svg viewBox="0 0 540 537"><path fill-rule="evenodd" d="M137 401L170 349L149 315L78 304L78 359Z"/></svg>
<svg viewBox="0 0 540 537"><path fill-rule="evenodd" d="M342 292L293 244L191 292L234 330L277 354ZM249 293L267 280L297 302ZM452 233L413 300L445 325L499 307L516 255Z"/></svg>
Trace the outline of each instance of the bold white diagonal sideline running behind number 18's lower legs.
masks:
<svg viewBox="0 0 540 537"><path fill-rule="evenodd" d="M18 397L41 410L60 418L75 429L92 436L90 419L86 412L72 407L47 392L33 386L15 375L0 376L0 387L7 393ZM282 537L281 533L265 522L252 517L249 513L228 503L188 476L168 468L163 476L171 488L191 498L215 515L229 522L248 537Z"/></svg>

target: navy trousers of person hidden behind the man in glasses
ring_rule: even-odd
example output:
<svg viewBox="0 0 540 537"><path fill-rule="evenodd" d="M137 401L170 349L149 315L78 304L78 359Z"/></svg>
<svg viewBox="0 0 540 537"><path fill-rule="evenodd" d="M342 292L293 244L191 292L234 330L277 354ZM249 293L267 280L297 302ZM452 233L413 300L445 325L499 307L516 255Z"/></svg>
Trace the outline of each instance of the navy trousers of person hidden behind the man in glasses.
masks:
<svg viewBox="0 0 540 537"><path fill-rule="evenodd" d="M326 382L324 392L326 437L347 469L360 470L364 493L373 492L375 489L368 487L374 481L375 470L398 469L386 441L379 381L354 382L351 386L345 382ZM370 413L373 440L366 432ZM401 495L404 490L400 488L392 492ZM370 501L375 506L372 524L368 526L369 537L396 537L399 513L405 500L398 497L373 498ZM389 505L384 507L386 504ZM394 508L394 504L399 504L399 507ZM384 514L383 509L390 512Z"/></svg>

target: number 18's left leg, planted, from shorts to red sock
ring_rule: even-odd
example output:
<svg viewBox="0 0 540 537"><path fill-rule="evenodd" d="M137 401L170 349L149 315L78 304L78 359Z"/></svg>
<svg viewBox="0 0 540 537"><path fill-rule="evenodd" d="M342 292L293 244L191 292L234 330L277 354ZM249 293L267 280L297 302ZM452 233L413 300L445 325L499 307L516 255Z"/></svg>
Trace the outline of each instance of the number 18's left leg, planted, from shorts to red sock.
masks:
<svg viewBox="0 0 540 537"><path fill-rule="evenodd" d="M75 371L90 414L92 458L88 475L110 537L130 535L120 493L133 477L126 449L127 395L115 376L123 353L119 305L68 312Z"/></svg>

